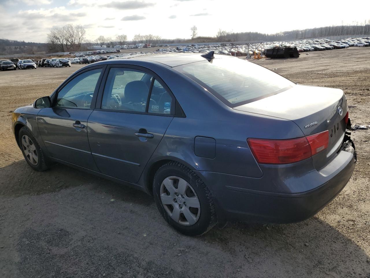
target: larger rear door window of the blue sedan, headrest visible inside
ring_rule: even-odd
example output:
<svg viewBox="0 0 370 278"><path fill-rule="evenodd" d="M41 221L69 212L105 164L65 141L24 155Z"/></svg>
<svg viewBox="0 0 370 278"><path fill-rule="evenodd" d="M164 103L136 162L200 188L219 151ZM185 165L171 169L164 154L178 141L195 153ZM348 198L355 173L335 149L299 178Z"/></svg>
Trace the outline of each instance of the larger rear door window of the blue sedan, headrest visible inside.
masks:
<svg viewBox="0 0 370 278"><path fill-rule="evenodd" d="M111 68L101 108L145 112L151 78L151 75L140 70Z"/></svg>

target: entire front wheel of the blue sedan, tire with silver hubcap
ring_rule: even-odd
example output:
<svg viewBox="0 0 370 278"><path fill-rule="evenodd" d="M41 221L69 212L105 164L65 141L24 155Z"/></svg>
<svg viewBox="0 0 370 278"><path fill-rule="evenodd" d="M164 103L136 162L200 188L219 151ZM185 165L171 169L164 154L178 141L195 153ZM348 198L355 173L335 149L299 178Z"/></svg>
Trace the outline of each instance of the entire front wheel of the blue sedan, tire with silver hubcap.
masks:
<svg viewBox="0 0 370 278"><path fill-rule="evenodd" d="M30 167L35 171L41 172L47 170L48 166L45 160L45 155L31 130L25 126L21 128L19 130L18 140L20 149L28 165L30 165Z"/></svg>

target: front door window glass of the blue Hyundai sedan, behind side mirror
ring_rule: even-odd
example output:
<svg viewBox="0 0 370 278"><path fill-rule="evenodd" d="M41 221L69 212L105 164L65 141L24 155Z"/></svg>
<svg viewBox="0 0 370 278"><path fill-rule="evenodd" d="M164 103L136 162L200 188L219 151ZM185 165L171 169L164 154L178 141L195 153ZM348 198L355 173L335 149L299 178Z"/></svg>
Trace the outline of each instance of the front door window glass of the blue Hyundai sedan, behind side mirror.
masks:
<svg viewBox="0 0 370 278"><path fill-rule="evenodd" d="M89 70L72 79L58 92L55 106L90 108L100 73L101 69Z"/></svg>

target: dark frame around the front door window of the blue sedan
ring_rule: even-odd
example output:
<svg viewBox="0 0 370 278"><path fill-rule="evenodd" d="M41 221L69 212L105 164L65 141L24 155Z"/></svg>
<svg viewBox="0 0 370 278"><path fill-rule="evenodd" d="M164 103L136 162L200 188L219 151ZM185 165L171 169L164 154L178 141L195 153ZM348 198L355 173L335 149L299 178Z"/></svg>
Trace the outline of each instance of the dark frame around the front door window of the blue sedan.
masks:
<svg viewBox="0 0 370 278"><path fill-rule="evenodd" d="M101 81L102 81L102 78L103 78L103 75L105 73L105 69L107 68L106 65L101 65L101 66L93 66L93 67L88 67L86 69L83 69L81 71L78 71L78 72L75 72L73 75L69 76L67 79L64 80L63 83L61 83L61 85L59 85L59 87L51 94L50 96L50 99L51 99L51 108L60 108L60 109L81 109L81 110L94 110L94 107L95 107L95 103L96 103L96 99L97 99L97 96L98 96L98 89L100 87L100 84L101 84ZM63 106L56 106L56 101L57 101L57 98L58 98L58 94L59 92L65 87L67 86L67 84L72 81L75 77L85 73L85 72L88 72L90 70L95 70L95 69L101 69L101 72L100 72L100 76L98 78L98 81L95 85L95 89L94 89L94 93L92 95L92 100L91 100L91 104L90 104L90 108L85 108L85 107L63 107Z"/></svg>

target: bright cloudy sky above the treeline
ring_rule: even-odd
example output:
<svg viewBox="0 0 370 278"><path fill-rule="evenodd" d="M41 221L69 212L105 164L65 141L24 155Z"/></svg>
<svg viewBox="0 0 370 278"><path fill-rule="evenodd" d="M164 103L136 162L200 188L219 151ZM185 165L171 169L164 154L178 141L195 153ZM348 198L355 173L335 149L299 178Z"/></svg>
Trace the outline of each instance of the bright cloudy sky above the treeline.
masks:
<svg viewBox="0 0 370 278"><path fill-rule="evenodd" d="M0 38L46 42L52 27L81 24L86 38L153 34L165 39L230 32L276 33L364 23L370 0L0 0ZM343 3L342 3L343 2Z"/></svg>

